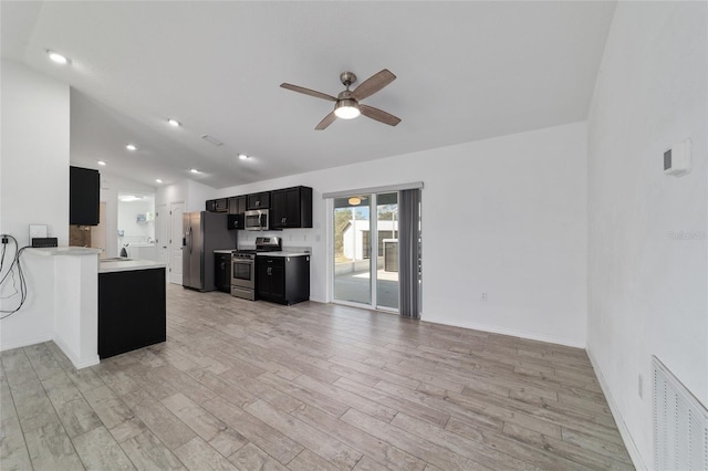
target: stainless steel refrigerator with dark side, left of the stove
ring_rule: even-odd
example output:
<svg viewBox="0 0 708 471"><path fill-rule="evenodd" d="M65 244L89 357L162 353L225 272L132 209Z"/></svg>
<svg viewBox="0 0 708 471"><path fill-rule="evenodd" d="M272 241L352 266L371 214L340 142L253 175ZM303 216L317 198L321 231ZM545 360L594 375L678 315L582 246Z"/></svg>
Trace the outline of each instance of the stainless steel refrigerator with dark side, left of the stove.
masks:
<svg viewBox="0 0 708 471"><path fill-rule="evenodd" d="M181 285L214 291L214 251L236 249L236 231L228 229L225 212L185 212L183 221Z"/></svg>

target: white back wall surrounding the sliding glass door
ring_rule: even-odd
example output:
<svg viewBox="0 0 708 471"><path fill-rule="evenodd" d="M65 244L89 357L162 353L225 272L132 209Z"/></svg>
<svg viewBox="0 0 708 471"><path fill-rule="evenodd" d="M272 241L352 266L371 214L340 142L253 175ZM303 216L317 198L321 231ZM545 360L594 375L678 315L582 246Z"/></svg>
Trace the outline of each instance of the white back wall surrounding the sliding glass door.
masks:
<svg viewBox="0 0 708 471"><path fill-rule="evenodd" d="M313 187L313 229L272 232L311 247L311 299L327 301L322 193L410 181L423 190L423 318L584 346L586 126L407 154L219 190ZM239 245L256 236L239 232ZM450 240L460 247L451 250ZM489 301L481 301L481 293Z"/></svg>

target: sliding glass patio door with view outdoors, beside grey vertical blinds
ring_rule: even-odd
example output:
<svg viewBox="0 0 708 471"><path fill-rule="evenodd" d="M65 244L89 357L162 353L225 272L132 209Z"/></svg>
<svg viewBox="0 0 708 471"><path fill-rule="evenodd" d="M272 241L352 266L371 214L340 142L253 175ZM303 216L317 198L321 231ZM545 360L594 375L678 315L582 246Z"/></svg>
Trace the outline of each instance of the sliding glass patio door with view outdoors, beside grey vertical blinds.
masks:
<svg viewBox="0 0 708 471"><path fill-rule="evenodd" d="M398 312L398 192L334 198L333 236L334 301Z"/></svg>

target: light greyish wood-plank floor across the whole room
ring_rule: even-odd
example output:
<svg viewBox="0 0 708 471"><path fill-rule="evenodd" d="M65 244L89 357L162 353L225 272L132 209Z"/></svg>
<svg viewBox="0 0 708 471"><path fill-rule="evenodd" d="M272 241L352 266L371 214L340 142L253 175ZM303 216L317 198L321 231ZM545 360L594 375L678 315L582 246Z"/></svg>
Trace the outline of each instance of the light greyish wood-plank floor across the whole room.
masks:
<svg viewBox="0 0 708 471"><path fill-rule="evenodd" d="M582 349L176 285L167 311L92 368L2 353L0 468L633 468Z"/></svg>

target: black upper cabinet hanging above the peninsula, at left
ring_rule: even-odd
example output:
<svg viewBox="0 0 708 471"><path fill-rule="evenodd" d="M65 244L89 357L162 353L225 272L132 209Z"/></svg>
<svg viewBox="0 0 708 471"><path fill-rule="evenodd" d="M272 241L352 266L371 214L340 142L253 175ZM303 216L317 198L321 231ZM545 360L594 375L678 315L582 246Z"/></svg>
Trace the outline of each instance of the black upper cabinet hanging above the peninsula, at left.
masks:
<svg viewBox="0 0 708 471"><path fill-rule="evenodd" d="M100 198L98 170L69 167L69 223L98 226Z"/></svg>

